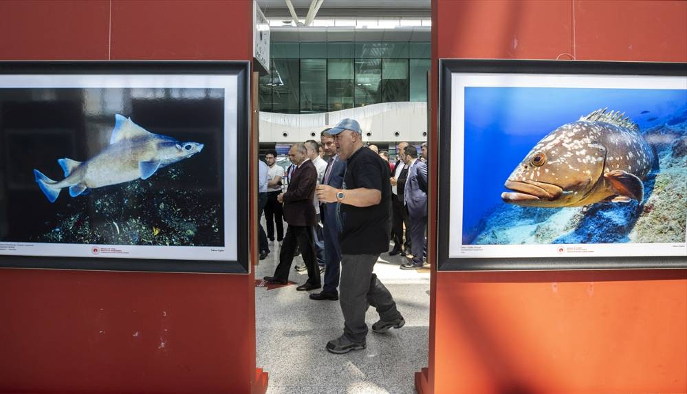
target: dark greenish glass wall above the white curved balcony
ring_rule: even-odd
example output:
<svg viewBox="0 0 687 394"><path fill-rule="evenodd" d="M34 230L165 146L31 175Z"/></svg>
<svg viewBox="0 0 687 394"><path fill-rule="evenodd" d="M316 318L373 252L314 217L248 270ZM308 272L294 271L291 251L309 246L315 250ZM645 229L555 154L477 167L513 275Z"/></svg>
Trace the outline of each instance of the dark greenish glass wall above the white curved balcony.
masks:
<svg viewBox="0 0 687 394"><path fill-rule="evenodd" d="M320 113L426 101L429 43L272 43L261 111Z"/></svg>

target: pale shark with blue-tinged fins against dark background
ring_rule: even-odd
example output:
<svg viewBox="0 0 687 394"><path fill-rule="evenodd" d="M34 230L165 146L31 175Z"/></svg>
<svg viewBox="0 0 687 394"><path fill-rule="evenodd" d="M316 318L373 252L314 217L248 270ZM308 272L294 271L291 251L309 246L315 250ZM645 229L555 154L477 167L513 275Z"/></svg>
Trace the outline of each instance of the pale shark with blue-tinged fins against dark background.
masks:
<svg viewBox="0 0 687 394"><path fill-rule="evenodd" d="M59 182L36 169L34 175L47 199L55 202L63 188L69 188L69 195L76 197L91 188L148 179L158 168L187 159L202 149L203 144L153 134L131 118L116 114L110 144L100 153L85 162L57 160L65 171L65 179Z"/></svg>

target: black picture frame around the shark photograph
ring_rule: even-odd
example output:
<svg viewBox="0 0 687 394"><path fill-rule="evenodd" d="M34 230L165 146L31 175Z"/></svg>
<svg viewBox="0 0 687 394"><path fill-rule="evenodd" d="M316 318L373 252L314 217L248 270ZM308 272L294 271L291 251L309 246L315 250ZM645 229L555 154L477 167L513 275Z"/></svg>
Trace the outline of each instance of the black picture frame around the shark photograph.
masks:
<svg viewBox="0 0 687 394"><path fill-rule="evenodd" d="M235 201L235 221L222 221L222 234L228 231L228 226L235 226L235 258L222 259L192 259L188 254L183 259L149 259L149 258L126 258L114 256L35 256L23 254L0 254L0 267L5 268L36 268L36 269L56 269L56 270L105 270L105 271L126 271L126 272L178 272L178 273L206 273L206 274L248 274L250 272L249 263L249 199L250 199L250 62L249 61L4 61L0 62L0 76L11 78L12 76L45 76L47 78L61 78L65 76L138 76L173 78L183 77L235 77L236 97L231 98L235 102L235 130L236 140L231 141L229 154L235 155L236 168L228 170L225 163L219 173L224 171L235 172L235 184L221 182L223 190L218 201L223 201L221 206L223 220L228 217L225 207L233 204L226 204L232 197ZM127 80L127 78L122 78ZM233 80L233 79L232 79ZM233 82L232 82L233 84ZM151 87L154 85L151 83ZM122 88L127 88L122 85ZM157 87L157 86L156 86ZM3 86L0 84L0 89ZM129 87L131 88L131 87ZM221 88L221 86L218 86ZM160 89L175 89L175 86L162 86ZM196 89L193 87L193 89ZM209 88L208 88L209 89ZM228 96L232 96L230 94ZM222 96L222 111L227 111L228 96ZM233 109L231 109L233 111ZM226 113L223 115L227 118ZM224 121L226 122L228 121ZM229 120L234 122L234 120ZM2 123L2 112L0 109L0 126ZM233 129L232 125L232 129ZM219 140L223 145L218 149L225 154L224 148L227 146L224 140L228 131L221 129L222 135ZM233 145L233 146L231 146ZM1 148L1 146L0 146ZM220 156L221 156L220 153ZM224 156L226 157L226 156ZM228 179L218 178L218 179ZM233 194L233 196L231 196ZM63 197L60 197L63 198ZM67 197L69 195L67 194ZM234 208L232 208L234 209ZM232 241L233 243L233 241ZM0 242L0 245L2 243ZM107 246L107 245L105 245ZM227 244L219 246L218 252L223 252L221 248L228 248ZM164 246L163 246L164 247ZM173 246L170 246L173 248ZM209 248L208 248L209 249ZM95 252L94 252L95 253Z"/></svg>

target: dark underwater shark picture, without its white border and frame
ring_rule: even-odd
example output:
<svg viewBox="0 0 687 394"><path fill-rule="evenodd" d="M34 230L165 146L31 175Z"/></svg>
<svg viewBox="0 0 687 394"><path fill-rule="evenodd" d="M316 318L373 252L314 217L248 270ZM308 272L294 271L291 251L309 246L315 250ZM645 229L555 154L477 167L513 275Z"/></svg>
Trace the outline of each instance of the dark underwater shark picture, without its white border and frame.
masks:
<svg viewBox="0 0 687 394"><path fill-rule="evenodd" d="M0 241L223 246L223 122L223 89L0 89Z"/></svg>

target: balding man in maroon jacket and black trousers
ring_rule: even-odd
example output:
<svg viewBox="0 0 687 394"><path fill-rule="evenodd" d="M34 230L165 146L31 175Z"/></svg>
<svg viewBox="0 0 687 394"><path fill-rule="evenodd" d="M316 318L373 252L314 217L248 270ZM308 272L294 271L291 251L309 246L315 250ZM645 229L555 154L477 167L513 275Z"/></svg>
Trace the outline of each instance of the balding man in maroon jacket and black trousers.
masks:
<svg viewBox="0 0 687 394"><path fill-rule="evenodd" d="M303 261L307 267L308 279L296 290L313 290L322 287L320 270L315 259L315 245L312 239L312 226L315 225L315 208L312 199L317 184L317 170L307 159L304 144L294 144L289 151L289 160L294 164L286 193L277 196L284 203L284 219L289 226L279 252L279 265L274 276L265 276L269 283L288 283L291 264L294 261L296 245L301 248Z"/></svg>

